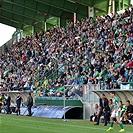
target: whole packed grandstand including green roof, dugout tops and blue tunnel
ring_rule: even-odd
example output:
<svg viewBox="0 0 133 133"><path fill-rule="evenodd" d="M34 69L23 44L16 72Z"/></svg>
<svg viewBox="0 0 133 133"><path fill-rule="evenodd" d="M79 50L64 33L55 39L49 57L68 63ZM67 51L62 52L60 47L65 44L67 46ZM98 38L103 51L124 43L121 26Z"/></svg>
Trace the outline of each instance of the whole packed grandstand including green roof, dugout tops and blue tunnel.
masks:
<svg viewBox="0 0 133 133"><path fill-rule="evenodd" d="M16 28L0 47L3 103L20 92L27 115L31 92L33 116L64 119L89 119L110 91L133 104L132 0L0 0L0 23Z"/></svg>

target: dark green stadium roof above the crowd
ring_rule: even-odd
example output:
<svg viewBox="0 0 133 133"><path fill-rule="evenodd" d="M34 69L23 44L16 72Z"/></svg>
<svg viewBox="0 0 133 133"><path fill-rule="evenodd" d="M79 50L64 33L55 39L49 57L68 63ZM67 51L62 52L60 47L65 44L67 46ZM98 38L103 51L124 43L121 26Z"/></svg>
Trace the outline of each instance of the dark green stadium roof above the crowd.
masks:
<svg viewBox="0 0 133 133"><path fill-rule="evenodd" d="M129 2L124 0L125 5ZM0 23L23 29L52 16L72 19L76 12L87 17L88 6L94 7L96 15L107 14L109 0L0 0Z"/></svg>

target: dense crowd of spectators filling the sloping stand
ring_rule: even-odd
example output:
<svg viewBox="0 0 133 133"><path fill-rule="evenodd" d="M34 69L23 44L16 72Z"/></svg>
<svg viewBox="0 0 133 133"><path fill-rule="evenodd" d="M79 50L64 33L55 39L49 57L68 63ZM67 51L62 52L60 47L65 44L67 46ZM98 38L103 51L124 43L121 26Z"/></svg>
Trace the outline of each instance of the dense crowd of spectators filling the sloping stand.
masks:
<svg viewBox="0 0 133 133"><path fill-rule="evenodd" d="M121 14L27 35L0 55L3 91L39 90L40 96L61 96L64 85L100 83L102 90L119 89L132 77L132 5ZM66 94L73 95L73 90Z"/></svg>

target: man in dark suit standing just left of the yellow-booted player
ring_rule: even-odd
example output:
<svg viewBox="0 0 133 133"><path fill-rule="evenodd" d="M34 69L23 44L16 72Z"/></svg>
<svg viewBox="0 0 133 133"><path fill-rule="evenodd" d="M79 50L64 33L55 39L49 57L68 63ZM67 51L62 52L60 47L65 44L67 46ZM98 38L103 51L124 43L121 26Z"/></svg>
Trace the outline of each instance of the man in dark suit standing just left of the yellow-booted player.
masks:
<svg viewBox="0 0 133 133"><path fill-rule="evenodd" d="M99 109L100 112L97 117L97 123L95 125L99 125L100 117L104 114L104 126L107 126L107 121L109 120L109 112L110 108L108 105L108 99L105 97L105 94L101 94L99 99Z"/></svg>

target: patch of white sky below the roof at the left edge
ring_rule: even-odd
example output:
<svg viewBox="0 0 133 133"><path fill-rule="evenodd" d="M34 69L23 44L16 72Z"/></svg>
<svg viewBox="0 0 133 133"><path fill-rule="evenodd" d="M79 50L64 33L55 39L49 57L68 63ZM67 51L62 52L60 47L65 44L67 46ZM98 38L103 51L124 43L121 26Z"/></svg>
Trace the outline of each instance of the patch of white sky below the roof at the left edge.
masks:
<svg viewBox="0 0 133 133"><path fill-rule="evenodd" d="M5 44L12 38L12 34L16 31L14 27L7 26L0 23L0 46Z"/></svg>

